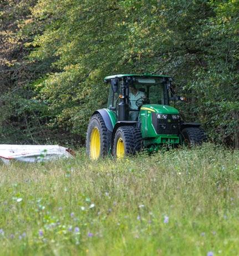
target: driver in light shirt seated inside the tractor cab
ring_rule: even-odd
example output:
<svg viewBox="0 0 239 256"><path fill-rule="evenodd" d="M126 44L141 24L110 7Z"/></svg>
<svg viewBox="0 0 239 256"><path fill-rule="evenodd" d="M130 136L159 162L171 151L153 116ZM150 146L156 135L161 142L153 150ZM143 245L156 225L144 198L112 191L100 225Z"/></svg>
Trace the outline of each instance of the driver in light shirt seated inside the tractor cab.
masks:
<svg viewBox="0 0 239 256"><path fill-rule="evenodd" d="M130 109L139 110L139 107L143 105L144 100L146 99L145 93L139 91L135 85L129 87L129 100L130 100ZM130 120L136 121L138 119L138 111L130 111Z"/></svg>

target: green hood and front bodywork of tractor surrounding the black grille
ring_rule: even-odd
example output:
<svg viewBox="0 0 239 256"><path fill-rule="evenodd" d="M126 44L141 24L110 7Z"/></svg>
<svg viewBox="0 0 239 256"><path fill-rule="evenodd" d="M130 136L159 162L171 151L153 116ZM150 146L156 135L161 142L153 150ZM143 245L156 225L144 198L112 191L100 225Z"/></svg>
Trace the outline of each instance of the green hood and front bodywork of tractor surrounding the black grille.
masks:
<svg viewBox="0 0 239 256"><path fill-rule="evenodd" d="M144 146L151 144L179 144L179 136L157 134L152 125L152 113L156 114L179 114L174 107L167 105L149 104L141 106L139 119L141 120L141 132L144 139Z"/></svg>

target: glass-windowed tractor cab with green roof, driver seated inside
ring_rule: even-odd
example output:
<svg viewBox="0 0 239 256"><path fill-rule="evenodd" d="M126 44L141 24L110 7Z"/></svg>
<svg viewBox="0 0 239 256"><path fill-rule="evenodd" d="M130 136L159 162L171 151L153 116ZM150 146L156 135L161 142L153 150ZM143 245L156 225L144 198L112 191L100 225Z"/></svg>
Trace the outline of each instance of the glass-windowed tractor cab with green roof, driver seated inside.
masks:
<svg viewBox="0 0 239 256"><path fill-rule="evenodd" d="M118 75L105 77L110 83L108 109L118 121L138 121L145 104L169 105L170 77Z"/></svg>

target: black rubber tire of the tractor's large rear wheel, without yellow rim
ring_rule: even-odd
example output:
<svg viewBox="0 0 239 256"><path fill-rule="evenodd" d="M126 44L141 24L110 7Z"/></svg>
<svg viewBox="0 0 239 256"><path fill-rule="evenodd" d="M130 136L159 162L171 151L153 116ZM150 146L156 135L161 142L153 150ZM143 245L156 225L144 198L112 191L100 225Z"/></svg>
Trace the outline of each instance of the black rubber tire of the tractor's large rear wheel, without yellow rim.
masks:
<svg viewBox="0 0 239 256"><path fill-rule="evenodd" d="M99 150L99 156L93 157L92 151L90 149L90 141L91 141L91 134L94 129L98 129L99 135L100 135L100 150ZM105 126L105 122L100 114L95 114L91 117L87 129L87 141L86 141L86 147L87 147L87 154L91 159L98 159L99 157L104 157L108 154L110 149L110 142L111 137L109 137L109 131L107 130Z"/></svg>

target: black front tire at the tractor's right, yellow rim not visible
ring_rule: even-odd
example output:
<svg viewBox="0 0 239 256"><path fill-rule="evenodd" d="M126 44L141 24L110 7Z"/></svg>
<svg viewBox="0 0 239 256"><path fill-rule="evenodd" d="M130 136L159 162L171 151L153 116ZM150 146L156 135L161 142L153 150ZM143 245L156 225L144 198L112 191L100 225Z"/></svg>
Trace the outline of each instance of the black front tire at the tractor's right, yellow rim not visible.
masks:
<svg viewBox="0 0 239 256"><path fill-rule="evenodd" d="M181 140L184 145L201 145L207 140L206 132L200 127L187 127L181 131Z"/></svg>

